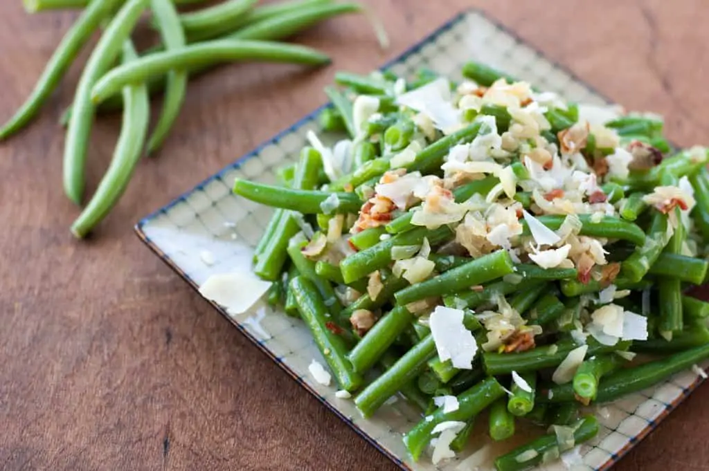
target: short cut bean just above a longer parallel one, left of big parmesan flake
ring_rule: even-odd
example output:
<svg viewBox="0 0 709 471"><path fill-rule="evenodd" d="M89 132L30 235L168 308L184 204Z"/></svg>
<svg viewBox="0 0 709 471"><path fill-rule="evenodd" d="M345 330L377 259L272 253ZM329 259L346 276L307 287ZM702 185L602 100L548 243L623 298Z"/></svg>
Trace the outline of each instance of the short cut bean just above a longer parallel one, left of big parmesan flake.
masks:
<svg viewBox="0 0 709 471"><path fill-rule="evenodd" d="M354 370L364 373L372 368L413 319L413 314L403 306L397 306L381 317L347 356Z"/></svg>

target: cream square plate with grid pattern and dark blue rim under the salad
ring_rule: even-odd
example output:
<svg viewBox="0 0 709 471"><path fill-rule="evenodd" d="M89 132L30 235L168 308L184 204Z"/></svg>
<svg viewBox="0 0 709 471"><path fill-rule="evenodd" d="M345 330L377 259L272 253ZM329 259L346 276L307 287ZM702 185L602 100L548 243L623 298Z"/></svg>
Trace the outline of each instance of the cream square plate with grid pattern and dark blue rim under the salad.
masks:
<svg viewBox="0 0 709 471"><path fill-rule="evenodd" d="M608 103L579 78L479 11L460 13L385 68L408 77L420 67L428 67L452 79L461 79L462 65L472 58L542 89L556 91L571 101ZM145 217L136 227L140 239L193 288L198 288L214 273L249 270L253 247L272 210L233 195L230 188L234 178L273 183L276 180L274 171L298 158L298 152L307 144L306 132L320 133L317 118L322 109L307 115L250 154ZM323 139L327 142L328 136ZM203 263L203 251L211 252L216 263L212 266ZM231 317L217 305L214 307L308 392L404 470L493 469L496 455L514 445L507 442L493 444L486 438L486 433L481 432L471 439L468 450L440 468L433 466L429 458L414 463L406 453L401 434L411 429L420 416L403 399L382 407L372 419L362 419L351 400L337 399L334 386L320 385L309 375L308 364L313 358L325 362L310 333L298 319L274 312L263 302L236 317ZM571 465L571 469L608 469L700 382L696 373L679 373L658 387L598 409L596 412L603 425L601 432L581 448L581 460ZM527 434L518 433L520 435ZM559 462L537 469L569 468Z"/></svg>

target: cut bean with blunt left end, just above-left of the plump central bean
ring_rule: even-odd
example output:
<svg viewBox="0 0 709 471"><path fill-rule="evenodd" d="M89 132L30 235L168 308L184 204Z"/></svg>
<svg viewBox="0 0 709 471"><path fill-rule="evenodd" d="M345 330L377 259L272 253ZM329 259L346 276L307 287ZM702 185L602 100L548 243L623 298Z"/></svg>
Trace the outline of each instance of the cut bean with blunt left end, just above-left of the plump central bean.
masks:
<svg viewBox="0 0 709 471"><path fill-rule="evenodd" d="M435 246L443 240L450 237L451 229L447 226L439 227L429 231L425 227L414 229L403 234L398 234L391 239L386 239L379 244L369 247L348 256L340 263L342 276L345 278L345 283L351 283L359 278L364 278L374 271L384 268L391 263L391 248L399 245L420 245L423 239L427 238L429 244ZM417 284L418 286L418 284Z"/></svg>

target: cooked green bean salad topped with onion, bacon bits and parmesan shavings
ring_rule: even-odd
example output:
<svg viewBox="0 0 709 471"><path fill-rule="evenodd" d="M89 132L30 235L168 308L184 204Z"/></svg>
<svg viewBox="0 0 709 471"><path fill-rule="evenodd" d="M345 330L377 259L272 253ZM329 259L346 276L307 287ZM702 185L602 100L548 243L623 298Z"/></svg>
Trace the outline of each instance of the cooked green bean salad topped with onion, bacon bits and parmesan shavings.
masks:
<svg viewBox="0 0 709 471"><path fill-rule="evenodd" d="M495 462L523 470L592 438L589 405L709 356L709 303L686 294L707 276L708 152L674 151L657 115L463 75L337 74L320 119L349 137L310 132L281 185L233 191L277 208L253 270L340 397L365 417L408 399L403 441L435 464L485 409L495 441L548 427Z"/></svg>

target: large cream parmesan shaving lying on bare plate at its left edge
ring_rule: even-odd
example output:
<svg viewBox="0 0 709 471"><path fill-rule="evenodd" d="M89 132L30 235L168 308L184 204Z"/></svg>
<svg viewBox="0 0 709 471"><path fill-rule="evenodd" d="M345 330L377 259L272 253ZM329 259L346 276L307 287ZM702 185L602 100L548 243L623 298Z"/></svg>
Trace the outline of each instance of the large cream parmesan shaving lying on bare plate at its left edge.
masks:
<svg viewBox="0 0 709 471"><path fill-rule="evenodd" d="M199 294L233 315L249 310L270 287L271 283L251 273L220 273L207 278L199 287Z"/></svg>

